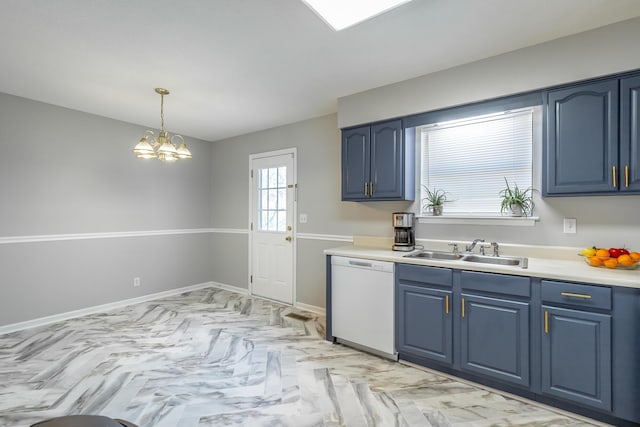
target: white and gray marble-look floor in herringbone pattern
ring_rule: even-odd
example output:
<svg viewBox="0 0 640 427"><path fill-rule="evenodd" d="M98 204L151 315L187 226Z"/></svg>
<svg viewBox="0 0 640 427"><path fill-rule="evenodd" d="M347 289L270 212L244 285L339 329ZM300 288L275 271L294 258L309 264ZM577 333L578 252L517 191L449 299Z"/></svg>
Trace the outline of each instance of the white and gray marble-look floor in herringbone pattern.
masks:
<svg viewBox="0 0 640 427"><path fill-rule="evenodd" d="M333 345L293 312L207 288L0 335L0 426L601 425Z"/></svg>

